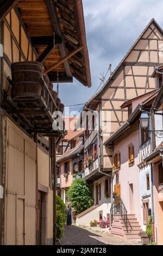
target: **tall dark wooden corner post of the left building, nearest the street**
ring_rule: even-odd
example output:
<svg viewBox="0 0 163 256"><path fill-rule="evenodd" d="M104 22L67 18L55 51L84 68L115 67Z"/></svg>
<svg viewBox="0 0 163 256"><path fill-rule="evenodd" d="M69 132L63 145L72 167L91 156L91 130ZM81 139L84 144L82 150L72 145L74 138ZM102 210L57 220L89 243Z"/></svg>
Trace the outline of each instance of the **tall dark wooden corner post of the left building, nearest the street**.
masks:
<svg viewBox="0 0 163 256"><path fill-rule="evenodd" d="M56 243L57 234L57 202L56 202L56 142L53 139L53 245Z"/></svg>

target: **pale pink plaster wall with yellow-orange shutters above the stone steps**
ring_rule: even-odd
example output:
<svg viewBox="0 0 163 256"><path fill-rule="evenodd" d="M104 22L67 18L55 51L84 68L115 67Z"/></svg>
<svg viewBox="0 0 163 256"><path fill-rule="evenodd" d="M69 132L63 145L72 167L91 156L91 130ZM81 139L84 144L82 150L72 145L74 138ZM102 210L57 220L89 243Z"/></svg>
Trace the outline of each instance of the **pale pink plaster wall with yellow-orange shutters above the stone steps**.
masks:
<svg viewBox="0 0 163 256"><path fill-rule="evenodd" d="M119 172L119 181L121 184L121 198L128 211L128 214L135 214L141 224L141 204L140 204L140 185L139 185L139 131L133 132L130 136L118 143L114 151L119 150L121 154L121 168ZM128 145L134 145L134 165L128 165ZM133 184L132 207L130 205L129 184ZM131 210L131 208L133 210Z"/></svg>

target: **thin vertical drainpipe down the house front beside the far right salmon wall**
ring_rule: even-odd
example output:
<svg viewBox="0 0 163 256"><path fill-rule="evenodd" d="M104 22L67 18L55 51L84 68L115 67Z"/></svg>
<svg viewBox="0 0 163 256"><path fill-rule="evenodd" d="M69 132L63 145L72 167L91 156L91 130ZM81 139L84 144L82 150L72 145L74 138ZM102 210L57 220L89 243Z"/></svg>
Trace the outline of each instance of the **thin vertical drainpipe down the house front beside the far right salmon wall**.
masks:
<svg viewBox="0 0 163 256"><path fill-rule="evenodd" d="M149 130L152 129L152 114L149 115ZM153 134L151 135L151 151L153 152ZM152 240L155 241L154 231L154 196L153 196L153 164L151 163L151 200L152 200Z"/></svg>

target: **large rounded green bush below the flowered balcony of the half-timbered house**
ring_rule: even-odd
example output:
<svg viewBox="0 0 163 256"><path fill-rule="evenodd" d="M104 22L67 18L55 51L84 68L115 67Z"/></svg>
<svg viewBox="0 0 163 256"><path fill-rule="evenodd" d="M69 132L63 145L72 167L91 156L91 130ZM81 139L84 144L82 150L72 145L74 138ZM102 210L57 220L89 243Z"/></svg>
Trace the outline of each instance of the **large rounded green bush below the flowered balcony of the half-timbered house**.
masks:
<svg viewBox="0 0 163 256"><path fill-rule="evenodd" d="M93 204L90 188L82 178L77 178L72 182L67 192L67 197L77 215L90 208Z"/></svg>

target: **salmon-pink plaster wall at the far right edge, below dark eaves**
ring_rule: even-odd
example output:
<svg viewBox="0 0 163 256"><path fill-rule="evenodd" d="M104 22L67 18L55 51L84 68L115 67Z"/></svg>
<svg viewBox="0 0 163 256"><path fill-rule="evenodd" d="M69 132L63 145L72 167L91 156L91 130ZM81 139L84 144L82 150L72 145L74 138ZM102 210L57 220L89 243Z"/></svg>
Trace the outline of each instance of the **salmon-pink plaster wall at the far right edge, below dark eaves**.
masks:
<svg viewBox="0 0 163 256"><path fill-rule="evenodd" d="M158 245L163 245L163 190L159 190L158 164L153 166L153 181L155 231Z"/></svg>

